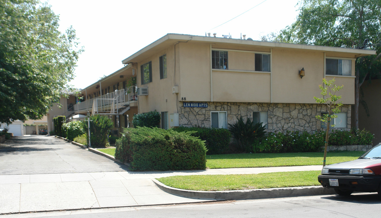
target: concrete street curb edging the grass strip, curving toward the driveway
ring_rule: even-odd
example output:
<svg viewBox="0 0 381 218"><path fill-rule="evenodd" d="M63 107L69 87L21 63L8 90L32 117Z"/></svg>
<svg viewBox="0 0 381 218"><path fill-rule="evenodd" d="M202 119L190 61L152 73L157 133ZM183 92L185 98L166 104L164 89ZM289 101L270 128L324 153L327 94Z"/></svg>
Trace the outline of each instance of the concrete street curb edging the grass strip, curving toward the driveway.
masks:
<svg viewBox="0 0 381 218"><path fill-rule="evenodd" d="M177 189L166 186L159 181L152 179L158 188L163 191L180 197L203 199L203 200L245 200L291 196L310 196L334 194L333 189L322 186L304 186L291 188L271 188L271 189L248 189L235 191L191 191Z"/></svg>

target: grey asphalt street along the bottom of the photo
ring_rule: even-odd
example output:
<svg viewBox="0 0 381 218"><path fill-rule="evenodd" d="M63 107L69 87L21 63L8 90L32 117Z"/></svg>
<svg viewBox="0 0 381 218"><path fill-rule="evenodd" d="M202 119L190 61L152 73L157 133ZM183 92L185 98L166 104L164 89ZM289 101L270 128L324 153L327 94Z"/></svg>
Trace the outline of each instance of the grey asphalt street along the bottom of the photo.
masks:
<svg viewBox="0 0 381 218"><path fill-rule="evenodd" d="M363 218L379 217L377 194L301 196L274 199L232 200L182 205L102 208L46 213L3 215L3 218L104 218L104 217L223 217L223 218Z"/></svg>

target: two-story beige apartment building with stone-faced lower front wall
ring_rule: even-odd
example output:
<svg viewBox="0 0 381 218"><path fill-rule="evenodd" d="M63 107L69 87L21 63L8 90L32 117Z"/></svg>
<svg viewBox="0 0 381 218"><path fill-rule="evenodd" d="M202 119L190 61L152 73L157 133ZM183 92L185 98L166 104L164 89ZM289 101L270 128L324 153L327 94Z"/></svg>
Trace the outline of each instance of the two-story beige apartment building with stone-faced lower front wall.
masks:
<svg viewBox="0 0 381 218"><path fill-rule="evenodd" d="M134 114L158 111L161 128L228 128L237 117L268 131L324 127L315 115L322 78L344 85L336 128L351 127L355 58L373 50L167 34L122 61L125 67L82 89L74 113L107 114L115 133ZM300 71L304 73L302 77ZM136 81L137 92L131 78Z"/></svg>

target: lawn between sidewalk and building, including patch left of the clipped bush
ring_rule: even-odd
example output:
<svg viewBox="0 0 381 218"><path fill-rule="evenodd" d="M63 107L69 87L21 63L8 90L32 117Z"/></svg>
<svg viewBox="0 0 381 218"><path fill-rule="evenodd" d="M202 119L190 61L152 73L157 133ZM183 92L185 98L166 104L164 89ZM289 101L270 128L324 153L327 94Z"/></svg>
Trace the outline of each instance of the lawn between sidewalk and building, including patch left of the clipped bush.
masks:
<svg viewBox="0 0 381 218"><path fill-rule="evenodd" d="M115 156L115 148L98 149ZM327 165L354 160L362 151L327 152ZM323 165L323 152L278 154L219 154L207 155L207 168L247 168Z"/></svg>

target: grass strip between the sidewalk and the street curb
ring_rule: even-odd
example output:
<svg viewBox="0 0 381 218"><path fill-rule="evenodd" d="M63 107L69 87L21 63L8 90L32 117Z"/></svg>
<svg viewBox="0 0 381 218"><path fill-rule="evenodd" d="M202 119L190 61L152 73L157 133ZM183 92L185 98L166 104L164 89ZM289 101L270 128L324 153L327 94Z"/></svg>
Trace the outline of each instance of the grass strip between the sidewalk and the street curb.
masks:
<svg viewBox="0 0 381 218"><path fill-rule="evenodd" d="M237 175L169 176L157 180L166 186L195 191L318 186L320 171L275 172Z"/></svg>

